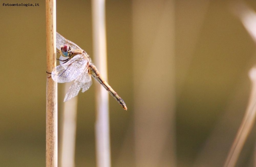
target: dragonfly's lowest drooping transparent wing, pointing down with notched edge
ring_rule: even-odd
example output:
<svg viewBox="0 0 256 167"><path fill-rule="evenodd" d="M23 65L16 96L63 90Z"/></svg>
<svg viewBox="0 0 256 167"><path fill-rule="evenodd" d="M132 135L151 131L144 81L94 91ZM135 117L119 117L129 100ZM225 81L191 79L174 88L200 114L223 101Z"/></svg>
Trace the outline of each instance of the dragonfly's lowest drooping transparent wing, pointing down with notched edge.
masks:
<svg viewBox="0 0 256 167"><path fill-rule="evenodd" d="M88 73L87 70L84 70L78 78L74 81L74 83L70 86L69 91L67 92L64 102L70 100L74 96L77 96L80 89L82 89L82 92L85 92L89 89L91 86L91 74Z"/></svg>

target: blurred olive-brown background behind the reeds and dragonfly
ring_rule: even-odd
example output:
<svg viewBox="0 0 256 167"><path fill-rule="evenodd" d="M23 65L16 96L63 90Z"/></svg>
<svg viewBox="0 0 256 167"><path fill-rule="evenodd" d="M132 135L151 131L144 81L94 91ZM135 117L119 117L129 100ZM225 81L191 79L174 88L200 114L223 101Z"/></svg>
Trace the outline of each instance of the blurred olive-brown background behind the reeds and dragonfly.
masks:
<svg viewBox="0 0 256 167"><path fill-rule="evenodd" d="M108 82L128 107L109 98L113 167L223 166L256 61L255 43L231 2L106 0ZM256 1L245 2L256 10ZM0 166L43 167L45 1L19 3L39 6L0 4ZM93 59L91 1L56 6L57 31ZM78 95L77 167L96 165L95 84ZM58 84L59 118L63 87ZM252 133L237 167L254 165L255 139Z"/></svg>

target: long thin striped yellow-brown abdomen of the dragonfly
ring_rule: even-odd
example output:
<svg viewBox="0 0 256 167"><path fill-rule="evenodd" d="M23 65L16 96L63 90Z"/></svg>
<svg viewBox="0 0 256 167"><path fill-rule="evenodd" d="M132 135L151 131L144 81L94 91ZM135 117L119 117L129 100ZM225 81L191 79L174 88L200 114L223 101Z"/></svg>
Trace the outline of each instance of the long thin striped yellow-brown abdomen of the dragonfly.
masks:
<svg viewBox="0 0 256 167"><path fill-rule="evenodd" d="M90 73L100 84L117 100L117 102L125 109L127 110L126 104L124 103L124 100L112 89L109 84L104 80L104 78L101 76L98 69L93 64L89 64Z"/></svg>

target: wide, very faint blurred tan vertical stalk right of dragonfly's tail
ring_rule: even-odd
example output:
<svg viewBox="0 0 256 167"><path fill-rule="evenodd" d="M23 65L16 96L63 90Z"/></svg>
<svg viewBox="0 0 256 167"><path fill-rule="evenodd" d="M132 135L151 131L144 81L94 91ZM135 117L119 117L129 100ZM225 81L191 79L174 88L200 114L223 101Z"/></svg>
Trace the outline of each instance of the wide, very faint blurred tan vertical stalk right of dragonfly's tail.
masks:
<svg viewBox="0 0 256 167"><path fill-rule="evenodd" d="M135 165L176 166L174 1L134 0Z"/></svg>

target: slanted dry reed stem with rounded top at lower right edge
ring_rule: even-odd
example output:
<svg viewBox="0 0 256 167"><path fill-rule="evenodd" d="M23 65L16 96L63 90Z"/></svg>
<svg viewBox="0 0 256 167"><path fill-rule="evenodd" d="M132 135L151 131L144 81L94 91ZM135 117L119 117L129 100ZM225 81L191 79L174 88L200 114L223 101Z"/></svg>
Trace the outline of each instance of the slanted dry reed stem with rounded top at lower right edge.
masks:
<svg viewBox="0 0 256 167"><path fill-rule="evenodd" d="M252 91L250 94L249 104L245 112L243 121L237 132L234 143L232 144L230 152L228 153L228 157L226 159L224 167L234 167L236 165L239 154L255 122L255 117L256 117L256 68L255 67L253 67L250 70L249 76L252 82Z"/></svg>

